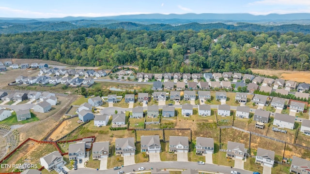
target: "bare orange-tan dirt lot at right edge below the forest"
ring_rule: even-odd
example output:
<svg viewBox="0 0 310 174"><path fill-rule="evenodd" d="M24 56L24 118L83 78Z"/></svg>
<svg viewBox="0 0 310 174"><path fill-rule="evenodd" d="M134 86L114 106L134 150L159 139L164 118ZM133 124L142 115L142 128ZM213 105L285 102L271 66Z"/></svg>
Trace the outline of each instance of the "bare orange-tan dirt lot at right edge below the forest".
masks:
<svg viewBox="0 0 310 174"><path fill-rule="evenodd" d="M265 74L265 75L276 75L281 79L292 80L295 82L310 83L310 73L301 71L285 71L285 70L257 70L251 69L253 73Z"/></svg>

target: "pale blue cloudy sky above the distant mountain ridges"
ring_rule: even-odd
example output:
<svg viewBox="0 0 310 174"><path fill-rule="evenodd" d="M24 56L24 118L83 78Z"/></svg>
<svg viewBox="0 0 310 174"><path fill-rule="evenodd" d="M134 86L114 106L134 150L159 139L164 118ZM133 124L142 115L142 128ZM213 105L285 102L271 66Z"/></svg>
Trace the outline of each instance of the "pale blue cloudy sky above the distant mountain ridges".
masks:
<svg viewBox="0 0 310 174"><path fill-rule="evenodd" d="M310 0L1 0L0 17L310 13Z"/></svg>

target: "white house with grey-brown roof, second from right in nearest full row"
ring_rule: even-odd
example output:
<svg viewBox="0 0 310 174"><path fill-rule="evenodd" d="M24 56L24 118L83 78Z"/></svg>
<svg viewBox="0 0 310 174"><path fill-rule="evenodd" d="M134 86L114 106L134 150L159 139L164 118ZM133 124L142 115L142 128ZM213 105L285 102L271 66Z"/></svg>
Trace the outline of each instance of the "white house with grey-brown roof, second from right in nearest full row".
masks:
<svg viewBox="0 0 310 174"><path fill-rule="evenodd" d="M263 166L273 167L275 162L275 152L257 148L257 154L255 158L255 163L260 163Z"/></svg>

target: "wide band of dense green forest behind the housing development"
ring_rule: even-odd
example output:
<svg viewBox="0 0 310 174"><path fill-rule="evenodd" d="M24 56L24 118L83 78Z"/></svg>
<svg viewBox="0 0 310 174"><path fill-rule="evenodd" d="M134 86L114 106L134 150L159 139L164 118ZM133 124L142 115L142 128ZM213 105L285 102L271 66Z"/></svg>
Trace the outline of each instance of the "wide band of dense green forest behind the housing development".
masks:
<svg viewBox="0 0 310 174"><path fill-rule="evenodd" d="M152 73L195 73L205 68L213 72L310 69L310 34L294 32L82 28L2 34L0 45L0 58L102 68L136 65Z"/></svg>

